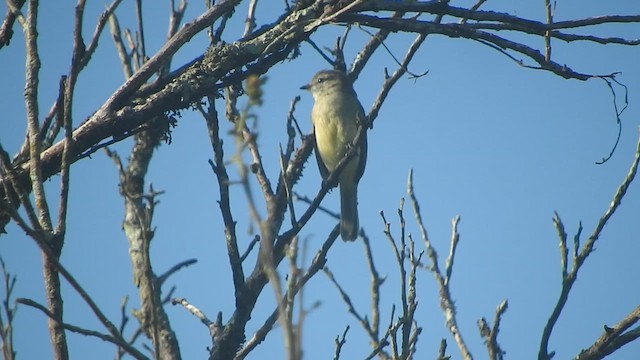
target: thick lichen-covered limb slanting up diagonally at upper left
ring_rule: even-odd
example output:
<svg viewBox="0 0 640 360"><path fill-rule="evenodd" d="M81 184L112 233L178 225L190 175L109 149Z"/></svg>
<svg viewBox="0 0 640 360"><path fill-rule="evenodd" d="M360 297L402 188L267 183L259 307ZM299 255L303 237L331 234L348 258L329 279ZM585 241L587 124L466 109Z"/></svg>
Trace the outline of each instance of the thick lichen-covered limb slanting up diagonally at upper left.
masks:
<svg viewBox="0 0 640 360"><path fill-rule="evenodd" d="M107 102L89 117L73 133L75 146L72 160L91 151L96 144L112 137L124 139L146 124L149 119L168 111L188 108L203 96L215 93L226 84L237 82L249 73L262 74L273 64L281 61L315 30L305 25L321 15L322 4L293 12L279 23L254 38L231 44L218 45L207 50L204 58L193 65L178 70L167 80L141 88L155 71L158 71L171 55L193 35L217 18L231 10L237 0L222 1L191 24L187 24L169 41L158 54L152 57L127 82L118 89ZM246 71L235 72L238 64L247 64ZM46 179L60 171L64 142L59 142L41 154L42 178ZM19 182L28 188L26 171L17 176ZM4 181L4 179L3 179ZM0 187L0 198L4 197ZM8 222L8 216L0 213L0 228Z"/></svg>

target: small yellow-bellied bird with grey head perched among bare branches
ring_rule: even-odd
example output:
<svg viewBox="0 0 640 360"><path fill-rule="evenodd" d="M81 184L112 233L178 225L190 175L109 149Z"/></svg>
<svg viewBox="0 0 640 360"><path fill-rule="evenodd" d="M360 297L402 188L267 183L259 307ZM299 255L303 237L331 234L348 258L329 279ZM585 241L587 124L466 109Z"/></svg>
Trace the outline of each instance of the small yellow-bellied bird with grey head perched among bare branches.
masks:
<svg viewBox="0 0 640 360"><path fill-rule="evenodd" d="M354 144L358 125L365 120L364 109L358 101L347 75L336 70L322 70L311 82L301 87L311 91L313 109L311 121L315 134L315 153L320 175L327 179L350 147L358 151L342 169L340 185L340 236L345 241L358 237L358 182L367 162L367 138Z"/></svg>

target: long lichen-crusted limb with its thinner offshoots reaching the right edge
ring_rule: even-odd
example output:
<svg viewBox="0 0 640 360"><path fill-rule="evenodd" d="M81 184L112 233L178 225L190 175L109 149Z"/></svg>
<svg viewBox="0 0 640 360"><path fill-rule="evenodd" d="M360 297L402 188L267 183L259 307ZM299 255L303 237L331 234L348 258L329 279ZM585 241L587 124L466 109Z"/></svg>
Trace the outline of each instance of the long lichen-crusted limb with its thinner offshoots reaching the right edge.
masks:
<svg viewBox="0 0 640 360"><path fill-rule="evenodd" d="M207 27L211 26L211 24L213 24L213 22L218 18L228 18L231 10L235 8L238 2L239 0L222 1L219 4L212 6L209 11L203 14L203 16L190 24L191 26L186 26L178 31L176 36L171 38L165 48L161 49L161 51L156 56L152 57L129 82L123 85L123 87L109 99L100 111L96 112L84 123L83 126L81 126L81 128L74 132L74 138L76 138L77 143L77 150L74 152L76 154L81 154L94 144L99 143L110 136L113 136L116 139L123 139L131 136L132 129L139 127L144 122L144 119L149 119L154 115L158 115L169 109L189 106L189 104L197 101L197 99L202 96L215 91L215 89L218 88L220 80L230 72L233 72L234 69L238 68L237 65L239 59L242 59L241 63L248 64L247 69L251 70L250 72L262 73L272 64L285 58L290 51L296 48L296 45L299 42L307 39L311 32L313 32L318 26L326 24L329 20L333 19L341 22L349 22L351 20L360 21L359 19L364 19L362 18L364 15L356 14L357 12L370 13L371 11L390 11L395 12L395 14L416 12L419 14L433 14L437 17L446 15L463 20L473 20L473 23L465 21L461 24L438 24L436 22L420 22L413 18L394 18L396 15L392 15L390 19L375 18L379 22L377 25L371 25L378 27L380 30L384 30L385 32L397 30L405 31L404 27L412 26L414 27L413 30L407 28L406 31L417 31L421 34L442 33L446 36L465 37L481 41L495 49L504 47L505 49L510 49L509 51L513 50L515 52L521 52L526 57L533 59L535 62L542 62L543 65L538 66L538 68L553 71L561 76L579 79L586 79L593 75L580 74L568 67L565 67L564 65L560 66L556 63L547 62L540 51L519 46L521 44L500 38L487 31L483 31L482 26L485 26L486 29L489 29L492 24L503 26L503 29L508 29L510 26L514 27L516 31L526 32L528 34L541 37L544 36L545 33L551 31L551 37L562 38L567 34L561 34L561 29L575 29L601 24L634 23L640 21L640 16L604 16L546 24L506 13L479 11L477 10L479 7L478 4L470 9L464 9L449 6L448 2L441 1L367 1L355 2L343 8L339 6L341 4L337 1L329 1L326 4L322 3L322 5L326 6L321 6L321 3L314 2L309 8L302 8L303 4L301 3L296 10L291 12L289 17L282 19L278 24L266 29L263 33L259 35L257 34L255 38L244 39L233 46L231 46L231 44L219 44L217 47L212 48L211 51L207 52L203 58L190 64L190 67L185 66L172 76L168 76L166 79L163 78L161 81L156 81L154 84L147 86L142 85L152 74L161 71L162 66L170 61L171 55L177 50L177 48L181 47L195 33L206 30ZM304 4L308 5L307 3ZM117 1L114 1L107 13L116 5ZM18 13L19 10L16 10L16 12L13 12L12 14L15 15ZM318 19L319 16L324 17L321 21L315 21L314 19ZM349 16L355 18L351 19ZM19 16L17 19L18 18ZM373 21L374 19L372 18L370 20ZM364 21L360 21L360 23L366 25L366 22ZM433 27L435 30L428 26ZM517 28L518 26L520 28ZM100 21L97 28L99 27ZM97 39L95 34L93 38ZM612 42L614 42L613 39ZM94 42L92 41L92 44L93 43ZM215 43L218 44L217 41ZM629 41L626 44L635 45L637 43L640 43L640 40L635 42ZM90 45L89 48L92 48L92 46ZM89 53L89 51L87 52ZM226 61L222 61L224 60L224 56L223 58L212 59L214 61L208 61L207 57L212 54L234 54L233 64L230 65ZM200 61L202 59L205 61ZM514 60L524 64L524 62L518 59L514 58ZM354 64L353 69L357 72L356 64ZM248 73L249 72L240 71L231 74L231 76L222 79L222 82L228 84L233 81L238 81ZM175 83L172 83L174 81ZM188 84L188 86L185 86L186 84ZM163 87L166 87L166 89L163 90ZM138 91L138 89L140 89L140 91ZM188 89L188 91L186 89ZM130 106L128 105L130 103L127 101L127 99L130 98L128 95L134 94L135 91L138 91L138 97L140 99L144 99L144 101L142 104L137 106ZM117 124L117 126L114 124ZM45 178L59 171L61 152L62 145L56 144L42 154L42 161L45 165L43 167L43 176ZM74 157L74 161L75 160L77 159ZM20 182L24 181L23 176L24 175L20 175Z"/></svg>

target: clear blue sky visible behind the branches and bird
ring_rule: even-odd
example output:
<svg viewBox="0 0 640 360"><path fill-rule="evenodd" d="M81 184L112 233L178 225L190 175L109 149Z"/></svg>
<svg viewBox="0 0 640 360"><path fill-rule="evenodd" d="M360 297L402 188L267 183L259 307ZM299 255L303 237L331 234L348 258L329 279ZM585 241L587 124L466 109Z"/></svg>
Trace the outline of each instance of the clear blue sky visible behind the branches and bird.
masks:
<svg viewBox="0 0 640 360"><path fill-rule="evenodd" d="M456 5L462 6L465 3ZM4 13L4 4L0 11ZM73 4L43 2L39 18L42 70L39 93L40 112L48 111L57 96L57 83L68 71L72 44ZM200 3L192 3L186 20L197 16ZM278 9L258 6L257 21L265 24L277 16ZM90 2L85 17L85 37L93 32L102 4ZM501 10L519 16L544 19L541 1L514 5L490 1L485 9ZM157 50L166 34L167 6L145 8L145 32L149 53ZM638 14L640 5L627 1L585 1L580 5L560 2L556 19L572 19L604 14ZM133 5L125 2L117 13L122 27L133 27ZM241 34L244 13L228 29L226 41ZM446 19L445 19L446 20ZM599 35L637 38L636 25L601 27ZM0 141L15 153L25 134L24 124L24 46L16 28L11 46L0 51L3 81L0 83L4 120ZM320 46L332 46L340 27L327 26L314 34ZM584 32L590 32L584 29ZM502 34L509 36L510 34ZM387 45L396 57L413 36L395 34ZM538 45L540 39L513 38ZM354 28L347 46L352 59L368 35ZM199 35L174 58L174 67L201 54L206 48L205 34ZM541 46L541 45L539 45ZM402 79L384 104L374 129L369 132L369 159L359 187L361 225L371 238L381 274L387 275L382 289L382 319L387 321L392 304L399 304L398 270L391 248L383 234L379 212L384 211L399 228L396 210L406 196L406 181L414 170L416 194L430 238L441 254L448 251L450 221L460 215L461 242L451 290L458 309L458 321L472 353L484 358L476 321L493 319L495 307L509 300L502 321L499 342L508 358L526 359L537 354L542 328L560 291L558 239L552 225L558 211L570 237L578 224L584 226L583 240L596 226L611 202L633 159L640 125L640 48L597 46L587 43L553 43L553 57L576 71L608 74L620 71L618 79L629 87L629 108L623 114L620 144L603 165L595 162L610 152L617 135L612 97L601 80L565 80L550 73L517 66L498 52L463 39L430 36L411 65L411 70L429 74L417 81ZM291 99L301 95L296 117L304 131L310 130L312 99L299 87L328 65L308 45L295 61L277 64L268 74L264 105L255 108L260 132L259 143L268 175L279 171L278 144L286 141L285 121ZM377 53L355 84L365 109L369 109L383 80L383 69L395 69L391 56ZM82 73L76 92L74 125L95 111L123 82L122 71L110 36L104 34L89 68ZM619 104L622 89L616 89ZM246 100L242 100L246 101ZM225 124L227 129L230 125ZM227 153L232 141L227 139ZM113 149L126 158L130 141ZM157 226L152 253L154 269L164 272L177 262L197 258L198 263L174 275L168 285L176 285L177 297L185 297L209 317L218 311L226 321L233 311L233 289L223 227L216 201L219 196L215 177L207 160L212 157L206 127L196 113L184 112L173 131L173 143L162 146L152 162L147 180L166 193L160 197L154 224ZM230 168L230 170L233 170ZM230 171L233 176L237 173ZM97 300L109 318L118 323L120 303L129 296L129 310L138 300L131 282L127 242L121 231L122 199L118 195L117 171L102 153L76 163L71 175L72 193L63 264ZM275 180L273 180L275 181ZM297 191L316 193L320 176L309 164ZM633 184L618 213L602 233L596 251L583 267L565 312L553 333L550 349L556 358L575 356L600 336L603 325L613 325L637 307L637 254L640 253L640 191ZM47 183L51 206L56 205L59 178ZM252 239L248 233L244 196L235 189L234 207L238 221L239 246ZM257 192L257 187L255 188ZM337 191L323 205L337 209ZM256 193L257 194L257 193ZM296 204L297 213L305 208ZM264 214L264 211L262 211ZM415 239L419 231L413 213L405 206L407 229ZM312 257L335 220L317 214L301 239L308 242ZM0 238L0 254L8 269L17 275L17 297L43 301L41 258L35 243L15 225ZM423 249L422 243L417 248ZM247 264L252 267L253 259ZM329 254L328 267L349 289L355 306L368 311L369 275L361 243L337 243ZM281 269L284 273L286 267ZM423 327L418 343L420 357L435 357L439 339L449 342L449 352L459 358L453 340L444 326L438 308L438 292L433 277L418 273L419 308L417 321ZM88 307L68 286L65 319L79 326L103 330ZM321 306L306 318L304 349L307 359L333 355L335 336L351 325L343 358L364 358L370 349L364 332L347 313L338 292L319 274L305 292L307 306ZM265 289L247 327L251 336L272 311L273 294ZM181 342L184 358L204 358L210 345L208 330L182 308L169 307L168 313ZM132 330L129 325L129 331ZM45 317L21 307L15 323L18 356L25 359L50 357ZM110 359L111 345L99 340L69 334L72 358ZM282 357L280 329L275 329L250 359ZM631 359L640 353L640 344L629 345L613 359ZM261 355L262 354L262 355ZM635 355L634 355L635 354Z"/></svg>

